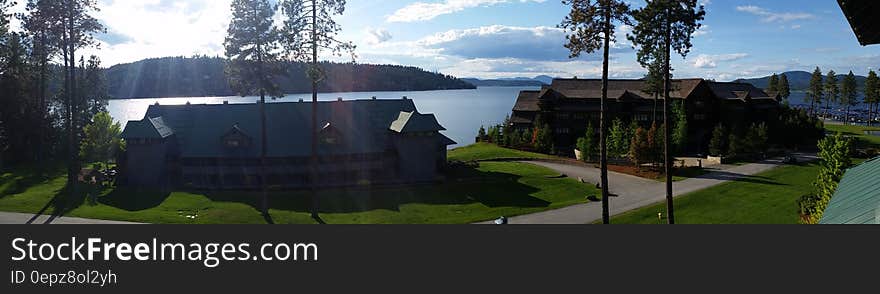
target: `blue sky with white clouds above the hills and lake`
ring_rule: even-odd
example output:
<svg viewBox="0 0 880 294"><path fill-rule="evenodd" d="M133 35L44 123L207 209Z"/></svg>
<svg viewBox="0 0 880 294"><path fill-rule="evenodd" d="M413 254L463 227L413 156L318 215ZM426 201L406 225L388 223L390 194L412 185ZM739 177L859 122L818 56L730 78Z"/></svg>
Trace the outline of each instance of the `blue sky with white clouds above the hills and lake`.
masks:
<svg viewBox="0 0 880 294"><path fill-rule="evenodd" d="M223 56L230 2L98 0L94 16L108 32L97 36L100 48L88 53L105 66L151 57ZM691 52L673 59L676 77L729 81L817 66L865 75L880 67L880 45L860 46L836 1L701 3L706 19ZM457 77L599 77L599 54L568 58L565 32L557 28L568 11L561 0L349 0L337 20L340 39L358 46L359 63L412 65ZM645 74L626 40L629 29L615 33L614 78Z"/></svg>

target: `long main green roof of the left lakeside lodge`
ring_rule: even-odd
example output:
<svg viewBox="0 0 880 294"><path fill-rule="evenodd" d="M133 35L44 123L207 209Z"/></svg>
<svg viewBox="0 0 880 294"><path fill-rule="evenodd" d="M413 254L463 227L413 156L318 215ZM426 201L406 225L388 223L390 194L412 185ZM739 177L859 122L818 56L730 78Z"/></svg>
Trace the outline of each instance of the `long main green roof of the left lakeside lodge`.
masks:
<svg viewBox="0 0 880 294"><path fill-rule="evenodd" d="M311 154L310 102L267 103L269 157L302 157ZM321 155L381 153L391 148L388 131L400 112L416 111L408 99L376 99L318 102L319 127L330 123L345 140L334 148L320 148ZM152 105L146 117L164 119L174 129L181 157L231 156L220 139L236 126L253 137L253 144L235 156L259 157L260 104ZM433 118L433 116L431 116Z"/></svg>

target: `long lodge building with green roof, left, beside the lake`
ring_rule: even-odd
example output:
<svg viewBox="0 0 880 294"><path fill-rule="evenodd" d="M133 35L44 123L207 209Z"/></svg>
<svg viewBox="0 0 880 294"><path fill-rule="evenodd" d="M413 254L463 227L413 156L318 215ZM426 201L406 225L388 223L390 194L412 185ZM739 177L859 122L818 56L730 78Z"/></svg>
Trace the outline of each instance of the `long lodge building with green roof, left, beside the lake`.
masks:
<svg viewBox="0 0 880 294"><path fill-rule="evenodd" d="M311 102L267 103L267 184L308 187ZM122 134L132 186L248 189L261 184L259 104L152 105ZM409 99L318 102L319 185L434 181L456 144Z"/></svg>

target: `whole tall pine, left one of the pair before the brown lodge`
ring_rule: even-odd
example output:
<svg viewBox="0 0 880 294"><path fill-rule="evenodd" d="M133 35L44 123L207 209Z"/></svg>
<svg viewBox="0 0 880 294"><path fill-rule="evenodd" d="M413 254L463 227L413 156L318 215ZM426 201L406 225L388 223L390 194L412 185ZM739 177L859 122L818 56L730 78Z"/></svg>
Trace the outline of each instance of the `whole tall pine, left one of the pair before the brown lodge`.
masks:
<svg viewBox="0 0 880 294"><path fill-rule="evenodd" d="M607 113L605 103L608 100L608 64L611 53L611 42L614 41L616 23L631 23L629 4L620 0L563 0L570 5L571 11L559 25L568 33L565 47L569 49L569 57L576 58L582 53L593 53L602 50L602 97L599 102L599 166L602 189L602 222L611 223L608 193L608 150L607 150Z"/></svg>

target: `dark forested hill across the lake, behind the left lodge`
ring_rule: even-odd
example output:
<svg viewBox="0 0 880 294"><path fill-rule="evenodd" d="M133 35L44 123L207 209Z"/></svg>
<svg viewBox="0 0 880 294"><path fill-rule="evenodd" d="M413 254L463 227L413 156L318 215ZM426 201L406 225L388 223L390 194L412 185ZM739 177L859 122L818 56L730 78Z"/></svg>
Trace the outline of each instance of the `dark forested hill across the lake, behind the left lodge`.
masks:
<svg viewBox="0 0 880 294"><path fill-rule="evenodd" d="M161 98L234 96L222 58L166 57L120 64L107 69L111 97ZM411 66L323 62L327 78L320 92L426 91L473 89L465 81ZM303 64L289 63L276 81L284 93L310 93Z"/></svg>

